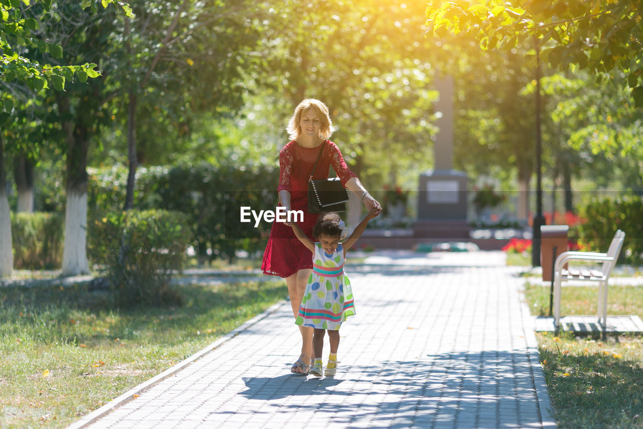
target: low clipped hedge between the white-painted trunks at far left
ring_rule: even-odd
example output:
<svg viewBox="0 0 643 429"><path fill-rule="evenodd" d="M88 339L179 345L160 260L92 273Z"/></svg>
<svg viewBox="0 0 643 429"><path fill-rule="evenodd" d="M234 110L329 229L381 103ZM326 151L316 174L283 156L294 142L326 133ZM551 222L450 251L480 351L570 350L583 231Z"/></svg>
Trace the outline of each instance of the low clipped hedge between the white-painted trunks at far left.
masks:
<svg viewBox="0 0 643 429"><path fill-rule="evenodd" d="M64 215L11 213L15 269L52 269L62 265Z"/></svg>

